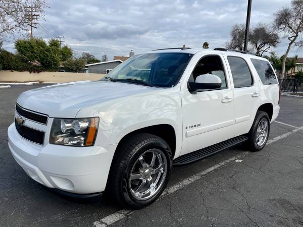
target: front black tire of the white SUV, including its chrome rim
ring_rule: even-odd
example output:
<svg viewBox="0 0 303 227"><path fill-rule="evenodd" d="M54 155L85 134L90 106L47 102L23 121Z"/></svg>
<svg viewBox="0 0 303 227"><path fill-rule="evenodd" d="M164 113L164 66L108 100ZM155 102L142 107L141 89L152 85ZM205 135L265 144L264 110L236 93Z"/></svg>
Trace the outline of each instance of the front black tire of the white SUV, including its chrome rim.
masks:
<svg viewBox="0 0 303 227"><path fill-rule="evenodd" d="M169 145L158 136L136 133L117 148L109 175L109 193L119 205L143 208L159 198L171 171Z"/></svg>

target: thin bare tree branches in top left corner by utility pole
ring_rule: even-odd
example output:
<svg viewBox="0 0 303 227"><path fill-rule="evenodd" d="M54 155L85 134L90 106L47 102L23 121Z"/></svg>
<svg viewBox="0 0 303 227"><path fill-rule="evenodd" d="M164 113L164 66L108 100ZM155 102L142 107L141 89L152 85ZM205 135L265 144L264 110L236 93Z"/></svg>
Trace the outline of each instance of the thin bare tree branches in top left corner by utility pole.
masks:
<svg viewBox="0 0 303 227"><path fill-rule="evenodd" d="M0 34L27 31L26 8L34 7L44 13L45 0L0 0Z"/></svg>

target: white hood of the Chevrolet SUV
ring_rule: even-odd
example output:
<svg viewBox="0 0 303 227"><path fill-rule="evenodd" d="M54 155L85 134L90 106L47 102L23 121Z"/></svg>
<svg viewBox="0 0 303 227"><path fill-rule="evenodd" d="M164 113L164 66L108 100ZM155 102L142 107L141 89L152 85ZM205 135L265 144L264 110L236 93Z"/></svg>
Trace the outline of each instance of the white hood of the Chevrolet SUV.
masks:
<svg viewBox="0 0 303 227"><path fill-rule="evenodd" d="M53 118L74 118L90 105L162 89L111 81L78 81L25 91L17 99L23 108Z"/></svg>

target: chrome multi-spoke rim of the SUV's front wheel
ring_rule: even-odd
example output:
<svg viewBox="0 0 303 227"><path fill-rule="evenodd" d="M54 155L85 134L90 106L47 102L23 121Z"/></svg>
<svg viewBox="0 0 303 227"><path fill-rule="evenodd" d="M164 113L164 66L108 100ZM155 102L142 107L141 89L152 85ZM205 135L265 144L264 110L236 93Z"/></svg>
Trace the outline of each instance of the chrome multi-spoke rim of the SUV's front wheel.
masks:
<svg viewBox="0 0 303 227"><path fill-rule="evenodd" d="M150 149L145 151L134 163L130 176L131 194L138 200L153 197L165 182L167 158L163 151Z"/></svg>

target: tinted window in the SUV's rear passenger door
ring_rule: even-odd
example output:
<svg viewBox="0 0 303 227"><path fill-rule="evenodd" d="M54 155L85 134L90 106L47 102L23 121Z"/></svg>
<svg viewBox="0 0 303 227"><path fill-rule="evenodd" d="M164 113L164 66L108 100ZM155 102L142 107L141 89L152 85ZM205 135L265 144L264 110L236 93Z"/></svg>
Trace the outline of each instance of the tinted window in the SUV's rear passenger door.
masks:
<svg viewBox="0 0 303 227"><path fill-rule="evenodd" d="M252 80L252 76L245 60L235 56L228 56L227 59L230 66L234 87L251 86L254 81Z"/></svg>

